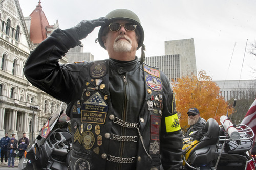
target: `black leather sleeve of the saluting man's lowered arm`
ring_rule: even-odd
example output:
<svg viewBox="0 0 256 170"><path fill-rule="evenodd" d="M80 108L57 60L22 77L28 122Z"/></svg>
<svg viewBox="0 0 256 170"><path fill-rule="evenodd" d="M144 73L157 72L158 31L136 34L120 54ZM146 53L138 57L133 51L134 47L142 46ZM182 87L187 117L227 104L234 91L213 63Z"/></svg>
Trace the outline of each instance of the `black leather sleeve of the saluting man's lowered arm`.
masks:
<svg viewBox="0 0 256 170"><path fill-rule="evenodd" d="M163 106L163 115L162 115L162 123L161 123L161 143L160 143L160 154L161 154L161 162L163 168L166 170L174 170L179 169L182 164L181 154L182 154L182 131L178 128L177 131L166 132L165 117L172 116L177 114L175 99L172 88L170 87L170 83L166 78L165 81L162 82L164 86L164 99L166 103Z"/></svg>

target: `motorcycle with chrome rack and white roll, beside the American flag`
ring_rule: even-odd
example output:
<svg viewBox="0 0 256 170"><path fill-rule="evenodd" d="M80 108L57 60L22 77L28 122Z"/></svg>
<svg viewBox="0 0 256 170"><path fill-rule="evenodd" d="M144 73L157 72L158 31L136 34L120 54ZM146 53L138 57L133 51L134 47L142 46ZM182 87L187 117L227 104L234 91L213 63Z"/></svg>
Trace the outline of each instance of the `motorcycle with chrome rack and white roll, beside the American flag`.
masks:
<svg viewBox="0 0 256 170"><path fill-rule="evenodd" d="M254 133L246 125L233 125L227 116L221 117L221 125L208 119L199 141L183 138L183 164L180 169L255 169L250 153Z"/></svg>

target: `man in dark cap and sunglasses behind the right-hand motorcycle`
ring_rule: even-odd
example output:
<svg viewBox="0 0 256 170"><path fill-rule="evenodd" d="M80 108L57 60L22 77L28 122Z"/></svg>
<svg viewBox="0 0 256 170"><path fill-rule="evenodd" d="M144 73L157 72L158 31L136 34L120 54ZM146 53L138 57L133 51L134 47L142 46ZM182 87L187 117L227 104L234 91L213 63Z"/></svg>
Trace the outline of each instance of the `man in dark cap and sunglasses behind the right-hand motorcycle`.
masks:
<svg viewBox="0 0 256 170"><path fill-rule="evenodd" d="M186 137L193 137L195 140L200 140L202 137L201 130L203 129L206 121L200 117L200 112L197 108L190 108L187 112L187 120L189 128L185 134Z"/></svg>

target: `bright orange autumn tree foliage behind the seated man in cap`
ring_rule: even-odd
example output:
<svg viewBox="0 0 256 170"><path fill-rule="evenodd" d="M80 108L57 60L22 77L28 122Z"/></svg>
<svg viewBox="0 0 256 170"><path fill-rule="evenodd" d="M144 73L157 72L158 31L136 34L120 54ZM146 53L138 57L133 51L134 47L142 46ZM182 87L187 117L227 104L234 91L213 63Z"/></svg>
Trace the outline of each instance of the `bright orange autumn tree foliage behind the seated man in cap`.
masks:
<svg viewBox="0 0 256 170"><path fill-rule="evenodd" d="M180 125L182 129L189 127L187 123L187 111L191 107L198 108L200 116L206 121L214 118L220 124L220 117L231 113L232 108L220 95L220 87L212 81L206 72L201 70L196 75L188 75L172 82L175 93L177 112L180 113ZM217 109L218 108L218 109Z"/></svg>

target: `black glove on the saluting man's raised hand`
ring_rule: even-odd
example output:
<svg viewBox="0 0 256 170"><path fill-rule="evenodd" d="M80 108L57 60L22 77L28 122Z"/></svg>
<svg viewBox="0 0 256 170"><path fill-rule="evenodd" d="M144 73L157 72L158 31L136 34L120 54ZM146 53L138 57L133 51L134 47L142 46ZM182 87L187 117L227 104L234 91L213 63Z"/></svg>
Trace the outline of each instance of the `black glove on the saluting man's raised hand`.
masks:
<svg viewBox="0 0 256 170"><path fill-rule="evenodd" d="M76 25L74 28L76 29L79 40L86 38L86 36L90 34L95 27L105 25L107 20L108 19L105 17L101 17L94 20L83 20L78 23L78 25Z"/></svg>

